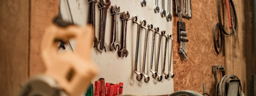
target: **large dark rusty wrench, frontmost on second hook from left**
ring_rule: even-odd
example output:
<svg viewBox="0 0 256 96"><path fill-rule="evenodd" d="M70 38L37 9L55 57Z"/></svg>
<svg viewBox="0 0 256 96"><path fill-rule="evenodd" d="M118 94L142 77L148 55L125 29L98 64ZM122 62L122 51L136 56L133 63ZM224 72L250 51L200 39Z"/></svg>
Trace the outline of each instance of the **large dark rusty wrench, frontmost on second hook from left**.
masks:
<svg viewBox="0 0 256 96"><path fill-rule="evenodd" d="M102 8L102 21L101 21L101 50L105 49L107 51L107 43L105 42L105 29L106 29L106 18L107 18L107 9L111 5L110 0L100 0L100 5Z"/></svg>

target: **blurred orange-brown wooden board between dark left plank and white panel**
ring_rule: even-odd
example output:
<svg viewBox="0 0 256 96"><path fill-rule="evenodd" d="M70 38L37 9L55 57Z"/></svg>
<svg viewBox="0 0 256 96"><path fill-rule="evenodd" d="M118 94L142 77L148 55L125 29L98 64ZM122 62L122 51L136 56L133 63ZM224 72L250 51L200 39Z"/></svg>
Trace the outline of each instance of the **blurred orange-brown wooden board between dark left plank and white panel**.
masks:
<svg viewBox="0 0 256 96"><path fill-rule="evenodd" d="M29 75L41 74L45 67L40 55L40 44L45 28L58 15L58 0L31 0L30 12L30 69Z"/></svg>

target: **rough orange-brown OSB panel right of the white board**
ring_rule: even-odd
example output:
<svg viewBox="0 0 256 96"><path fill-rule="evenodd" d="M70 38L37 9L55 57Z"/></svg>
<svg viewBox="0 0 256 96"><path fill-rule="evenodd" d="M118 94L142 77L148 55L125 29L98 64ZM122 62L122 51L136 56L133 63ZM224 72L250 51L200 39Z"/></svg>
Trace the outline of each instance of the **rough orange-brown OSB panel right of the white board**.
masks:
<svg viewBox="0 0 256 96"><path fill-rule="evenodd" d="M188 61L181 60L178 53L180 47L177 41L177 21L174 16L174 91L194 90L203 93L203 82L206 92L214 95L215 80L212 65L224 65L222 54L215 55L212 41L212 28L217 22L217 0L191 0L192 19L183 19L188 31L187 54ZM220 78L220 76L218 77Z"/></svg>

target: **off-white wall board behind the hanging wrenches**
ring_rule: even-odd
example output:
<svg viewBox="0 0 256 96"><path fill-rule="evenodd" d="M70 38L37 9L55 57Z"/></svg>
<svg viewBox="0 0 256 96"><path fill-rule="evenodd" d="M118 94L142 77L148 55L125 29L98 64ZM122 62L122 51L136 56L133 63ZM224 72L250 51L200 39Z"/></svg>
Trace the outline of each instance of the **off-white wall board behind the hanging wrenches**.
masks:
<svg viewBox="0 0 256 96"><path fill-rule="evenodd" d="M111 0L111 5L117 5L120 7L120 12L129 11L130 18L132 16L138 16L138 21L145 19L147 24L152 23L154 27L159 27L160 31L166 30L166 34L172 34L173 23L172 21L167 22L166 18L161 18L160 13L154 13L155 0L146 0L146 7L141 7L141 0ZM172 11L172 1L171 0L171 13ZM64 20L71 21L68 6L66 0L61 1L61 13ZM88 0L69 0L72 16L74 23L78 25L85 25L88 18ZM158 6L160 11L162 9L162 0L158 1ZM165 10L168 12L168 0L165 0ZM98 38L99 33L99 10L96 4L96 36ZM129 55L126 58L120 58L117 55L117 51L110 51L110 35L111 35L111 15L108 9L107 20L106 20L106 34L105 42L108 44L107 52L98 52L96 48L93 48L93 60L98 65L100 72L96 79L100 77L105 78L105 82L111 83L124 83L123 93L139 93L142 95L166 95L174 91L173 79L169 78L164 79L162 73L163 65L163 55L164 55L164 44L165 38L162 38L161 50L160 50L160 59L158 73L163 75L163 81L157 82L156 79L152 78L152 73L149 71L150 67L150 56L152 49L152 32L148 35L148 47L147 47L147 58L146 58L146 74L150 76L150 82L145 83L142 81L136 80L136 74L134 70L134 61L135 61L135 50L136 50L136 38L137 38L137 24L134 24L132 21L127 23L127 49ZM173 15L173 14L172 14ZM119 19L119 38L121 35L121 21ZM157 34L156 34L157 35ZM144 40L145 40L145 30L141 28L140 35L140 44L139 44L139 55L138 55L138 71L142 70L142 59L143 59L143 49L144 49ZM75 44L75 41L70 41L71 45ZM158 36L155 38L155 50L154 50L154 63L153 70L155 69L155 61L157 54L157 45L158 45ZM73 46L74 47L74 46ZM69 47L66 47L69 48ZM74 48L75 49L75 48ZM170 66L170 44L167 47L167 56L166 56L166 68L165 71L168 72L168 67ZM171 62L172 63L172 62ZM171 64L173 65L173 64ZM173 67L171 67L173 72ZM95 80L96 80L95 79ZM144 79L144 77L143 77Z"/></svg>

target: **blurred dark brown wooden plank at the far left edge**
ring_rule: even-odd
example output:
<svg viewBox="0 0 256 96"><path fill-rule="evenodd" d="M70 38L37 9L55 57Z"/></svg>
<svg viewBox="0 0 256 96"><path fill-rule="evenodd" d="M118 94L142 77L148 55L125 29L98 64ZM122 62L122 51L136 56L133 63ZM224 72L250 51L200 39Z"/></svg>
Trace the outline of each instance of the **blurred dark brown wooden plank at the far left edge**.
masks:
<svg viewBox="0 0 256 96"><path fill-rule="evenodd" d="M0 95L16 96L28 78L29 0L0 0Z"/></svg>

